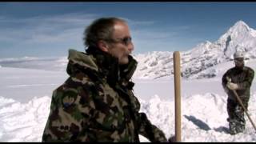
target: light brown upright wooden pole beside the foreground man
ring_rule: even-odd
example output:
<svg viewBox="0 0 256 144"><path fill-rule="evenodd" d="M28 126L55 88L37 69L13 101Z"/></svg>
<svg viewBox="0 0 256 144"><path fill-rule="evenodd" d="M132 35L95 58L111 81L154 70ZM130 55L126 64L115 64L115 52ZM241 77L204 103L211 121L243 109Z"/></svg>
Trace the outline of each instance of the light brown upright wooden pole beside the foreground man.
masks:
<svg viewBox="0 0 256 144"><path fill-rule="evenodd" d="M180 78L180 54L178 51L174 51L175 142L181 142L182 140Z"/></svg>

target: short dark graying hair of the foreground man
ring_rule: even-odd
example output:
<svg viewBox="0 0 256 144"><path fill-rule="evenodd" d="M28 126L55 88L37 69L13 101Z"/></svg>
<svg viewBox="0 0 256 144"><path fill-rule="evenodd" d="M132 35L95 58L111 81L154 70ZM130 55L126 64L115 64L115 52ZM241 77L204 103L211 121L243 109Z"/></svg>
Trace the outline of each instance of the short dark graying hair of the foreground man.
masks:
<svg viewBox="0 0 256 144"><path fill-rule="evenodd" d="M121 18L98 18L94 20L84 31L84 45L97 46L99 40L108 40L114 32L115 22L126 22Z"/></svg>

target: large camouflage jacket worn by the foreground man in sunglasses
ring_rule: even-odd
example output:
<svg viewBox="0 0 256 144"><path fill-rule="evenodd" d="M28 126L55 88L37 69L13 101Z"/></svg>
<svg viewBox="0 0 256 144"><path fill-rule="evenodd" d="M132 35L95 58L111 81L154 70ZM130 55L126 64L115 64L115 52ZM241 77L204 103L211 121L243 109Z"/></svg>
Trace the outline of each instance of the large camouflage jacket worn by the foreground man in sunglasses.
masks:
<svg viewBox="0 0 256 144"><path fill-rule="evenodd" d="M89 53L89 54L88 54ZM118 59L99 50L69 51L66 82L54 90L42 142L166 142L151 124L130 82L137 62L118 66Z"/></svg>

